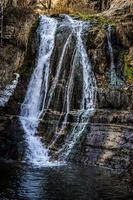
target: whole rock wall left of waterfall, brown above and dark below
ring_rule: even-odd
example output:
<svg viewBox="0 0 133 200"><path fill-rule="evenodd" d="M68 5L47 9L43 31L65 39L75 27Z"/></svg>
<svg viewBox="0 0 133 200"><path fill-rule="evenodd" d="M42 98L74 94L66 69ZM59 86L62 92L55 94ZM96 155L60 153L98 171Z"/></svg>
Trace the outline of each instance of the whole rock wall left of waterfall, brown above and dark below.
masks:
<svg viewBox="0 0 133 200"><path fill-rule="evenodd" d="M5 108L6 110L0 111L0 157L8 159L20 159L23 154L23 137L21 131L17 131L19 119L14 118L13 114L19 113L17 108L20 108L19 101L25 95L24 85L28 84L30 71L34 66L34 38L38 24L38 16L31 8L14 6L8 7L7 4L4 8L4 39L3 45L0 46L0 96L1 91L14 79L14 73L21 74L22 78L17 86L20 94L14 94L9 110Z"/></svg>

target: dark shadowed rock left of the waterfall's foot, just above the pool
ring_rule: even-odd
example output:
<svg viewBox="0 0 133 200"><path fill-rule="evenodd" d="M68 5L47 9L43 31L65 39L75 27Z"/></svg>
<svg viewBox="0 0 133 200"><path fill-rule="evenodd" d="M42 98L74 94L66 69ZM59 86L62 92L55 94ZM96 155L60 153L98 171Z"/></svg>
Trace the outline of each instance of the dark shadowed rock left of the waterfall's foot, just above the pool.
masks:
<svg viewBox="0 0 133 200"><path fill-rule="evenodd" d="M24 149L19 119L13 116L0 116L0 160L22 160Z"/></svg>

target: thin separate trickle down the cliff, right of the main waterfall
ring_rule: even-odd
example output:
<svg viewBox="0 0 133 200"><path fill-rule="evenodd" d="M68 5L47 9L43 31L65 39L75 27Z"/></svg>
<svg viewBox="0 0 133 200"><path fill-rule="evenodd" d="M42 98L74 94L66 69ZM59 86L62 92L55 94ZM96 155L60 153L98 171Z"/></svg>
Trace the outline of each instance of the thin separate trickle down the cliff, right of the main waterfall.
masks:
<svg viewBox="0 0 133 200"><path fill-rule="evenodd" d="M116 73L111 35L112 35L112 26L108 25L107 41L108 41L108 50L109 50L109 55L110 55L110 83L111 85L114 85L114 86L123 85L123 81L117 76L117 73Z"/></svg>

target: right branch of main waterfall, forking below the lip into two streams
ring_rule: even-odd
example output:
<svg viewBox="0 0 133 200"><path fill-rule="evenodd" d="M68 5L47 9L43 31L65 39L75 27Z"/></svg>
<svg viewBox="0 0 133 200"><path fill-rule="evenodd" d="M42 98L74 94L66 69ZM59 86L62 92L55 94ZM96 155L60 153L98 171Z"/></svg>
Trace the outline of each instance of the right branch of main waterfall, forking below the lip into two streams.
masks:
<svg viewBox="0 0 133 200"><path fill-rule="evenodd" d="M96 80L92 71L91 63L83 42L84 32L89 29L90 23L72 20L68 18L71 22L72 29L76 35L76 53L72 65L72 73L69 80L68 93L67 93L67 113L61 131L65 128L67 122L67 115L70 112L70 99L72 95L73 87L73 75L75 70L75 62L79 59L80 65L83 70L83 97L81 102L81 111L79 112L77 123L74 126L72 133L67 138L67 141L63 148L59 151L63 159L67 159L71 154L76 143L80 140L80 137L84 134L89 118L95 109L96 100ZM70 95L71 94L71 95Z"/></svg>

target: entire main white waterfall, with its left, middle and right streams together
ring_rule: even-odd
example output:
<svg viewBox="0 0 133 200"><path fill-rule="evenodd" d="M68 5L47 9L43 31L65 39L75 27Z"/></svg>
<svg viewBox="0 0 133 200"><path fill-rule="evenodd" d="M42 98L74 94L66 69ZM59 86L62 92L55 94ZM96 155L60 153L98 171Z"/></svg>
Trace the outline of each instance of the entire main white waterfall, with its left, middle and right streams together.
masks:
<svg viewBox="0 0 133 200"><path fill-rule="evenodd" d="M77 64L82 70L81 76L83 76L83 84L82 99L79 108L80 112L78 111L77 122L61 150L65 152L65 157L70 154L75 144L80 139L80 136L84 133L91 112L95 109L96 81L84 40L86 34L88 35L91 24L90 22L75 20L67 15L61 15L60 19L61 20L58 22L58 19L47 16L41 16L40 18L40 25L37 30L38 37L40 38L37 64L31 76L24 102L21 106L20 121L25 132L27 143L25 160L37 166L54 164L50 162L48 149L43 145L41 137L37 136L37 129L40 118L43 118L47 110L50 109L51 102L62 76L61 72L64 66L65 56L69 51L71 42L73 42L72 39L75 41L73 43L75 46L71 60L69 61L70 74L66 78L62 108L65 110L65 116L61 127L58 127L61 118L59 118L59 122L56 125L55 132L57 138L55 138L55 140L64 132L68 121L68 114L71 112L71 100L73 97L74 77ZM63 41L63 48L60 52L57 66L54 66L56 69L55 76L52 77L50 82L50 75L52 73L50 61L53 49L55 48L56 31L59 32L60 27L63 26L69 28L69 31L67 33L67 38Z"/></svg>

